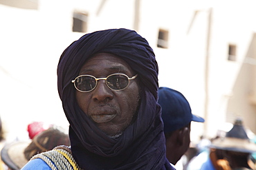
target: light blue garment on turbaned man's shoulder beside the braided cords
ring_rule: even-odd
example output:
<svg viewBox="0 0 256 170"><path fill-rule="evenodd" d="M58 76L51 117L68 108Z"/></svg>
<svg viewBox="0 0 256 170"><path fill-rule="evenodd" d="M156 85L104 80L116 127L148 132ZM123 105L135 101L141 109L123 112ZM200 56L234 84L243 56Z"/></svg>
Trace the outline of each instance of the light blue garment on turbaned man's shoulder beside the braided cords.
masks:
<svg viewBox="0 0 256 170"><path fill-rule="evenodd" d="M21 170L51 170L51 168L42 159L30 160Z"/></svg>

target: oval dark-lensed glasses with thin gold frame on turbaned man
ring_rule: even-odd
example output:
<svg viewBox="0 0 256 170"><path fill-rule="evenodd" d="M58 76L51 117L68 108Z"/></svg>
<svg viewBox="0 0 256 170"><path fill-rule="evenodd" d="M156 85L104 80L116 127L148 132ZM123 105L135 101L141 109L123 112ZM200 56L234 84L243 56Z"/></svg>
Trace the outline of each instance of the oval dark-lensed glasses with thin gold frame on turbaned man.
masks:
<svg viewBox="0 0 256 170"><path fill-rule="evenodd" d="M75 89L79 92L91 92L98 84L98 81L104 80L109 89L120 91L125 89L129 85L130 80L134 80L138 74L129 78L126 74L110 74L105 78L95 78L91 75L77 76L72 83L74 83Z"/></svg>

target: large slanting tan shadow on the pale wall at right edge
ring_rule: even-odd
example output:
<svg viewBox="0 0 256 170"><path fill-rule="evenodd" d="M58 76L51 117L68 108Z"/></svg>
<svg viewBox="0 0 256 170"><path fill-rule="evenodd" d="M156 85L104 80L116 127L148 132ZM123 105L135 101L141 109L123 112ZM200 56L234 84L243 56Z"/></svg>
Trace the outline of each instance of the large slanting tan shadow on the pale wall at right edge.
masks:
<svg viewBox="0 0 256 170"><path fill-rule="evenodd" d="M228 122L235 117L244 118L244 124L256 133L256 34L248 46L237 80L232 88L232 97L227 105Z"/></svg>

